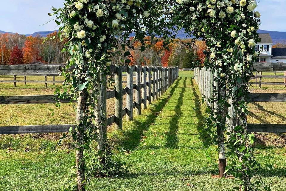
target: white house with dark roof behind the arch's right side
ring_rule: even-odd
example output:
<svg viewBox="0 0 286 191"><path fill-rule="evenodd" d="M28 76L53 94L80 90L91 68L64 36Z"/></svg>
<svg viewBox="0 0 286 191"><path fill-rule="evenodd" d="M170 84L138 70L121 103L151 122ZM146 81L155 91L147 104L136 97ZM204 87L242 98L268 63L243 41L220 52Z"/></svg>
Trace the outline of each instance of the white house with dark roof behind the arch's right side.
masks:
<svg viewBox="0 0 286 191"><path fill-rule="evenodd" d="M259 34L261 42L255 46L255 51L259 51L257 62L285 62L286 48L272 48L272 38L268 33Z"/></svg>

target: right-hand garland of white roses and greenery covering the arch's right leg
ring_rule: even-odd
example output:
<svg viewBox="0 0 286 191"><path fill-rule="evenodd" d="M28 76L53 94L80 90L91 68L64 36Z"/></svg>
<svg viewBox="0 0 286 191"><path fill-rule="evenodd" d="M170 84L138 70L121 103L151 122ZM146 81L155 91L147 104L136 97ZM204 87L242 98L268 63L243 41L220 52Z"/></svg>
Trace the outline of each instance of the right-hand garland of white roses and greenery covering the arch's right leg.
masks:
<svg viewBox="0 0 286 191"><path fill-rule="evenodd" d="M254 134L246 131L248 81L253 75L252 61L259 54L254 50L255 43L260 41L260 13L254 11L256 7L255 0L177 0L173 9L180 27L189 35L203 38L208 46L204 66L217 75L215 95L208 100L214 107L207 109L206 131L212 140L204 141L206 145L217 144L220 156L226 155L228 166L223 173L234 175L242 190L258 190L260 186L259 181L251 182L260 164L255 161L251 147ZM226 140L223 133L227 129L225 118L231 117L226 114L231 106L229 99L237 122ZM264 189L270 190L267 186Z"/></svg>

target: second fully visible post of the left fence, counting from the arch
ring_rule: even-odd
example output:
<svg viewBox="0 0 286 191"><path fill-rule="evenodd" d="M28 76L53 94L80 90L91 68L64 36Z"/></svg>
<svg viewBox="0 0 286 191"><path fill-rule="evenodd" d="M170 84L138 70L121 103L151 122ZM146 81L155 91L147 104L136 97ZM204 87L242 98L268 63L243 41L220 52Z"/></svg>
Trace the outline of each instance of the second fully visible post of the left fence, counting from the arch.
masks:
<svg viewBox="0 0 286 191"><path fill-rule="evenodd" d="M126 120L133 120L133 66L127 66Z"/></svg>

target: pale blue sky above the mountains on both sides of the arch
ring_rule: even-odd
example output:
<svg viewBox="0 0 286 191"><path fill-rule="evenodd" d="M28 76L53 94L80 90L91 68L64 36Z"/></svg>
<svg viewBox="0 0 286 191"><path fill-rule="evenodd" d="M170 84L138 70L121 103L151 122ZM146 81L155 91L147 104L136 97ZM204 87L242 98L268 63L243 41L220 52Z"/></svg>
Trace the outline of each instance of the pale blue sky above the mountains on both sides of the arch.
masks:
<svg viewBox="0 0 286 191"><path fill-rule="evenodd" d="M3 0L0 6L0 30L20 34L56 30L55 21L45 24L51 20L47 13L52 12L52 6L62 7L63 2L63 0ZM286 0L257 2L257 10L261 13L262 21L260 29L286 31Z"/></svg>

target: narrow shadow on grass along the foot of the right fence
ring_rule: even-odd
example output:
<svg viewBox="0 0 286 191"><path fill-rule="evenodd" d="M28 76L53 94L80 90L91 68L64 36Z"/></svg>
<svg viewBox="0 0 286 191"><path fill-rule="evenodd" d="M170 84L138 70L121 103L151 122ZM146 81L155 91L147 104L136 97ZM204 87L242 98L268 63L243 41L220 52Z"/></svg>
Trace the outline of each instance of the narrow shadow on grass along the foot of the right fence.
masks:
<svg viewBox="0 0 286 191"><path fill-rule="evenodd" d="M195 89L194 82L192 81L192 79L191 79L191 85L192 85L193 94L195 96L195 108L194 108L194 110L195 110L197 118L198 118L197 130L198 130L198 132L200 134L200 138L203 140L205 146L209 146L210 141L208 141L208 140L211 137L205 131L205 128L204 128L205 116L201 112L202 108L201 108L201 103L200 103L200 96L198 96L197 90Z"/></svg>

